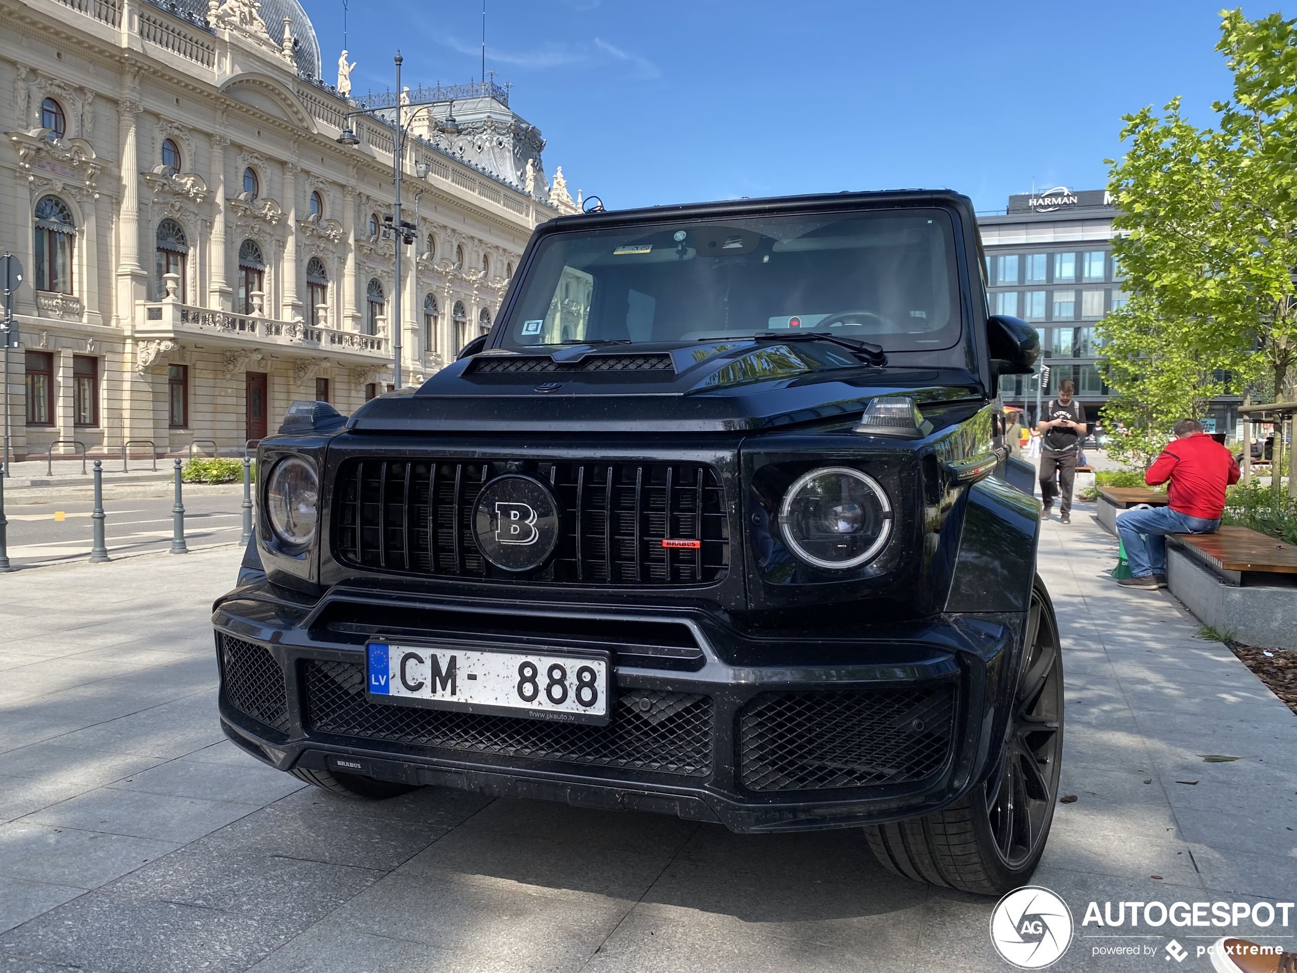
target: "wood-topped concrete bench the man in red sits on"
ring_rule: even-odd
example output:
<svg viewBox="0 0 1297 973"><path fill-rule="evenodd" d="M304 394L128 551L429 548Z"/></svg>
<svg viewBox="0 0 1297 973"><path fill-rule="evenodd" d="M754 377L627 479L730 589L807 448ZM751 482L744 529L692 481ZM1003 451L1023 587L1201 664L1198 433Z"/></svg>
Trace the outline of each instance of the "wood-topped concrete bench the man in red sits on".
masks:
<svg viewBox="0 0 1297 973"><path fill-rule="evenodd" d="M1166 537L1171 594L1245 645L1297 649L1297 547L1246 527Z"/></svg>

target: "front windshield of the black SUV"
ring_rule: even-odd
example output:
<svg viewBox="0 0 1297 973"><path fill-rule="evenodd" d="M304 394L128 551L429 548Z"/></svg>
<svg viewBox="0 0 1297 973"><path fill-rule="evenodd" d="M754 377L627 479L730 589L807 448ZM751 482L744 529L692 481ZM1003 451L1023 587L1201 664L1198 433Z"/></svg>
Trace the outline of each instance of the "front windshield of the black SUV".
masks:
<svg viewBox="0 0 1297 973"><path fill-rule="evenodd" d="M960 340L943 210L695 221L547 236L505 348L822 332L886 352Z"/></svg>

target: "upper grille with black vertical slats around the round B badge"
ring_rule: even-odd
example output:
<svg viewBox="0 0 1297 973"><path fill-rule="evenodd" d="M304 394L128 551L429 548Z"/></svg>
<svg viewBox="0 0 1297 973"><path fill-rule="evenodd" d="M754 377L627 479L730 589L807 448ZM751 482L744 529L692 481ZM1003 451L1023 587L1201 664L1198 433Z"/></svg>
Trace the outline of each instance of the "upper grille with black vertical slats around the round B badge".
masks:
<svg viewBox="0 0 1297 973"><path fill-rule="evenodd" d="M354 459L337 483L335 551L358 567L447 577L518 577L482 558L473 501L519 468L507 459ZM729 568L725 489L696 463L529 463L562 511L550 562L527 577L559 584L691 585ZM698 541L665 547L663 540Z"/></svg>

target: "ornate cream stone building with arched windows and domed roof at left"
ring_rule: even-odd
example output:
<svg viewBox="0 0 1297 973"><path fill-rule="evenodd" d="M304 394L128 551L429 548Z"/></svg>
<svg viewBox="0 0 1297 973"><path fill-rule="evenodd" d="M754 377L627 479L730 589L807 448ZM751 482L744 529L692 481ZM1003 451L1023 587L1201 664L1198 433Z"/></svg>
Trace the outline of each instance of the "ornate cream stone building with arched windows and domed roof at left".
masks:
<svg viewBox="0 0 1297 973"><path fill-rule="evenodd" d="M393 131L355 117L361 145L337 144L361 102L319 78L297 0L0 0L17 458L230 450L293 400L349 413L387 388ZM407 143L414 383L489 327L532 227L575 209L507 91L472 87Z"/></svg>

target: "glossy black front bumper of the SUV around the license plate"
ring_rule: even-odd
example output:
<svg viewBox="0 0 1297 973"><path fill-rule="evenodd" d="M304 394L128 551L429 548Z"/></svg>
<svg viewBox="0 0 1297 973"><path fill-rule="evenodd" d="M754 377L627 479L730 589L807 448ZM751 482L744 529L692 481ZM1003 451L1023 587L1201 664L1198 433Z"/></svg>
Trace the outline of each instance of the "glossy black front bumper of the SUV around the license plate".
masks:
<svg viewBox="0 0 1297 973"><path fill-rule="evenodd" d="M655 811L735 832L878 824L956 800L996 764L996 716L1013 691L1004 684L1017 668L1022 627L1012 614L939 615L770 638L738 632L704 606L515 603L507 611L520 624L508 632L534 625L547 651L564 649L556 632L590 638L601 625L674 625L695 645L612 646L617 702L608 727L366 698L368 638L454 641L449 619L501 611L453 595L341 585L318 603L266 584L241 588L213 616L222 727L283 771ZM498 636L510 645L525 638Z"/></svg>

